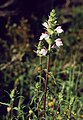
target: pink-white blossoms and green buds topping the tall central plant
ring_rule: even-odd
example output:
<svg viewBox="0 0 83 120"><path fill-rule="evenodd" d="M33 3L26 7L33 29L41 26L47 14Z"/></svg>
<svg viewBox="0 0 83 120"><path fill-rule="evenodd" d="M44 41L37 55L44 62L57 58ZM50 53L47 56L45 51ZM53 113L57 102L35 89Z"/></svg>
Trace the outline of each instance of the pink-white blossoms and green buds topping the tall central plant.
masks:
<svg viewBox="0 0 83 120"><path fill-rule="evenodd" d="M50 52L51 49L58 48L63 45L63 42L59 37L60 34L63 32L63 29L61 28L61 26L57 26L56 12L54 9L50 12L48 21L44 22L42 25L44 26L45 33L41 34L39 38L39 41L41 42L39 42L39 44L47 42L48 46L50 47L46 48L44 45L38 45L37 54L41 56L46 56L48 51Z"/></svg>

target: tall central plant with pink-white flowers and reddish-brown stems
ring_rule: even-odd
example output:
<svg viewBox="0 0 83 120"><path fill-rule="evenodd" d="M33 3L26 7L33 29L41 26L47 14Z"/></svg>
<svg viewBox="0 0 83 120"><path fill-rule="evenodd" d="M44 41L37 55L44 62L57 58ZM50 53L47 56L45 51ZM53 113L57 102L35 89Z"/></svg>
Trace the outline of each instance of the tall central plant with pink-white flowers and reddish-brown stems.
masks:
<svg viewBox="0 0 83 120"><path fill-rule="evenodd" d="M40 87L41 87L41 78L42 78L42 56L47 58L47 66L46 66L46 78L45 78L45 87L44 87L44 117L46 114L46 96L47 96L47 87L48 87L48 80L49 80L49 68L50 68L50 55L53 53L54 49L59 49L63 45L63 42L60 38L60 34L63 32L61 26L57 26L57 18L56 12L53 9L50 12L48 21L45 21L43 24L45 32L40 35L39 43L37 46L37 55L40 57ZM41 89L41 88L40 88ZM38 102L38 106L40 103ZM39 115L39 108L38 108L38 115Z"/></svg>

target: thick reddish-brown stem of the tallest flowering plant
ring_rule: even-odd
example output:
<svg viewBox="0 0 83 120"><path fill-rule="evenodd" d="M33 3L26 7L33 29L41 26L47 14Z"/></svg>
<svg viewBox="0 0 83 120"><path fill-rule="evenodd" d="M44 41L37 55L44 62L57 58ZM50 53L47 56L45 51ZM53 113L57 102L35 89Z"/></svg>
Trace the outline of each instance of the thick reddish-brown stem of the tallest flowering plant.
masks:
<svg viewBox="0 0 83 120"><path fill-rule="evenodd" d="M47 93L47 87L48 87L49 67L50 67L50 45L49 45L49 55L47 56L47 71L46 71L46 82L45 82L45 89L44 89L44 117L46 113L46 93Z"/></svg>

